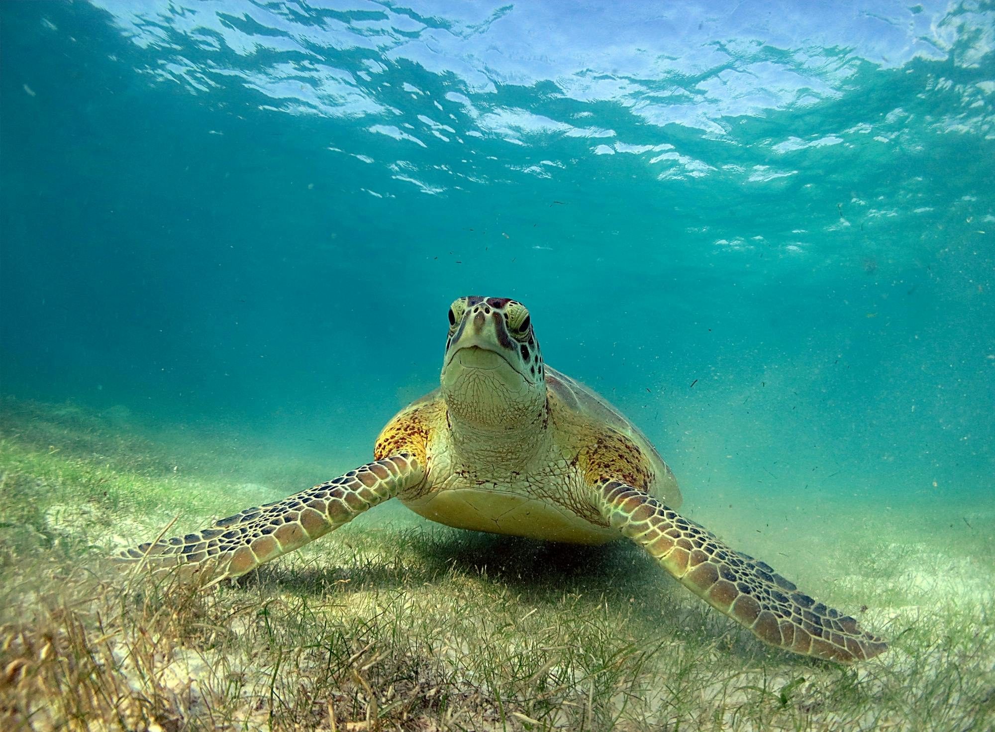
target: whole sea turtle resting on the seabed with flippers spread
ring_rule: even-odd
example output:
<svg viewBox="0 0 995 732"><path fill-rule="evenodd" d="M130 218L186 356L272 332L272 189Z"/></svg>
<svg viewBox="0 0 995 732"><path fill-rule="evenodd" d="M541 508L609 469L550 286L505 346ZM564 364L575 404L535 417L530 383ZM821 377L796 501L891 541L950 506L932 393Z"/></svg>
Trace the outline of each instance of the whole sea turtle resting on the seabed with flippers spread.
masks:
<svg viewBox="0 0 995 732"><path fill-rule="evenodd" d="M453 302L440 388L387 423L373 458L121 558L238 577L396 497L458 528L575 544L627 536L711 607L796 653L848 662L888 647L679 514L667 463L604 399L546 366L513 299Z"/></svg>

